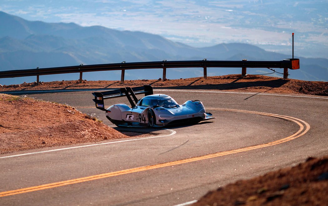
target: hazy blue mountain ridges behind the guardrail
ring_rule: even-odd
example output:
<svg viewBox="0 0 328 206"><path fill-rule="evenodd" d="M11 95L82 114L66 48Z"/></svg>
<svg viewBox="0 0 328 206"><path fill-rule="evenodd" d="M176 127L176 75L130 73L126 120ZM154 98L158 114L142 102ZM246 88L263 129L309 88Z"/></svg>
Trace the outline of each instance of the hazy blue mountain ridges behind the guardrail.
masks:
<svg viewBox="0 0 328 206"><path fill-rule="evenodd" d="M297 51L295 51L297 54ZM159 35L138 31L119 31L101 26L82 27L74 23L27 21L0 11L0 71L57 66L108 64L175 60L242 60L280 61L291 58L259 47L229 43L212 47L191 47ZM328 81L328 59L300 59L300 69L289 70L289 78ZM282 69L276 69L282 72ZM202 76L202 68L167 70L167 78ZM161 69L127 70L125 79L158 79ZM208 68L208 76L238 74L241 68ZM271 73L270 70L247 69L249 74ZM282 77L281 74L271 74ZM79 74L41 76L40 81L76 80ZM0 84L33 82L35 77L0 79ZM89 72L87 80L119 80L120 71Z"/></svg>

